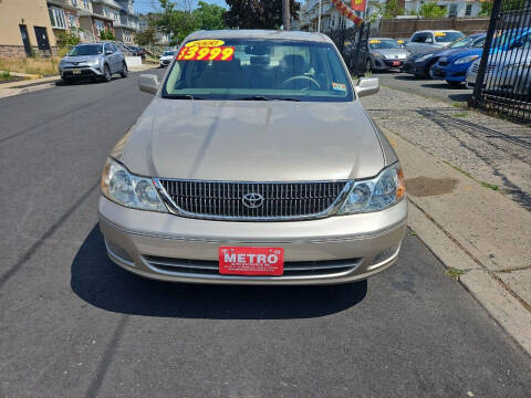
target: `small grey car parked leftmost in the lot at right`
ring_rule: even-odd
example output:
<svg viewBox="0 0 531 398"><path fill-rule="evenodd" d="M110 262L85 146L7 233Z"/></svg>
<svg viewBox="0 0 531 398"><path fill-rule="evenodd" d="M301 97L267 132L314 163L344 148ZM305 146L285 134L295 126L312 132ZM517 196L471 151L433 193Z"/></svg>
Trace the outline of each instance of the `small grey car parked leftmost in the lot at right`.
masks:
<svg viewBox="0 0 531 398"><path fill-rule="evenodd" d="M391 38L373 38L368 40L368 57L366 71L385 71L402 69L412 53Z"/></svg>

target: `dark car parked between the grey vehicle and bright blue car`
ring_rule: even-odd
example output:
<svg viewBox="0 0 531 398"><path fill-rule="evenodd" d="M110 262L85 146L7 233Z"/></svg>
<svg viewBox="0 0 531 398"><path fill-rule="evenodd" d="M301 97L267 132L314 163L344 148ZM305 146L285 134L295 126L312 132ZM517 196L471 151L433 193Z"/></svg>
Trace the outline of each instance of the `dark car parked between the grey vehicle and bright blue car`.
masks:
<svg viewBox="0 0 531 398"><path fill-rule="evenodd" d="M404 62L403 72L414 74L418 77L429 77L431 66L435 65L440 56L447 56L464 49L482 46L485 38L486 33L470 34L456 40L444 49L437 49L427 53L413 54L406 62Z"/></svg>

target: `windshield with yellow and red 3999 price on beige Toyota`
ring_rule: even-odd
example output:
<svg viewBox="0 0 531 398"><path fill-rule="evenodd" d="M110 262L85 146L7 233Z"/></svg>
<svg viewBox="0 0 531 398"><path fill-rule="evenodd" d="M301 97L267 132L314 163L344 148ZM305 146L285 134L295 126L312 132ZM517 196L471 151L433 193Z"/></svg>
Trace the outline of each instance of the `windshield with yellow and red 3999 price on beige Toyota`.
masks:
<svg viewBox="0 0 531 398"><path fill-rule="evenodd" d="M346 102L353 93L330 43L226 39L185 44L163 97Z"/></svg>

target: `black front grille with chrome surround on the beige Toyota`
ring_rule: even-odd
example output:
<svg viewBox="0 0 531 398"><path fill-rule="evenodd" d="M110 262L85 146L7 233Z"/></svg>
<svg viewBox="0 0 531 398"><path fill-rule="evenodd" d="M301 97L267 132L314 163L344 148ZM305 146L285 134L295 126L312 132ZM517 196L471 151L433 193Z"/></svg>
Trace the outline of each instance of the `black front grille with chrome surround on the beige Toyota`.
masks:
<svg viewBox="0 0 531 398"><path fill-rule="evenodd" d="M326 216L346 193L346 181L232 182L159 179L163 196L184 216L226 220L304 219ZM243 197L261 196L248 207Z"/></svg>

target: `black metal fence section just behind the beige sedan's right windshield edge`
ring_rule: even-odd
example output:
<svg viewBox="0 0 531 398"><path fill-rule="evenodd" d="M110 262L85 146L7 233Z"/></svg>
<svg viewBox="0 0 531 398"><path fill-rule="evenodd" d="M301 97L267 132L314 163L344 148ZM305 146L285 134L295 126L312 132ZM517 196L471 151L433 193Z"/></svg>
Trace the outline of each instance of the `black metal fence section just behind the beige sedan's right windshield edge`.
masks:
<svg viewBox="0 0 531 398"><path fill-rule="evenodd" d="M335 43L354 76L363 76L368 56L368 33L371 23L325 32Z"/></svg>

